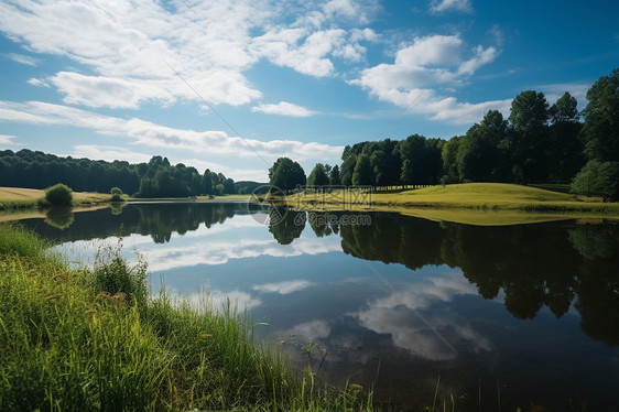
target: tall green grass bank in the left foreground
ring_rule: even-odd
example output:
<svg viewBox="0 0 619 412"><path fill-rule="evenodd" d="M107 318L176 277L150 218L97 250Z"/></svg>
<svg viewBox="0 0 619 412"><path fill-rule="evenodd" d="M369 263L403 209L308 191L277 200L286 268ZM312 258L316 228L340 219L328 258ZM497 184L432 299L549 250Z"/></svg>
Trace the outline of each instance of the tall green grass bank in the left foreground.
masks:
<svg viewBox="0 0 619 412"><path fill-rule="evenodd" d="M148 295L116 249L93 269L0 225L0 410L369 410L312 388L232 305Z"/></svg>

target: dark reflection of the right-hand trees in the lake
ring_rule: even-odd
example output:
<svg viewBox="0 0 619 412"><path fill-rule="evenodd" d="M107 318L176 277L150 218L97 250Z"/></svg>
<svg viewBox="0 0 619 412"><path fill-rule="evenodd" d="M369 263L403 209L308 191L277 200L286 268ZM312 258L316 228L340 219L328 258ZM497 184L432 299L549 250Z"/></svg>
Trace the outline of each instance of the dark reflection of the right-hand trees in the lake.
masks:
<svg viewBox="0 0 619 412"><path fill-rule="evenodd" d="M503 290L517 318L544 306L561 317L578 296L583 330L619 345L619 225L480 227L372 214L371 226L343 226L340 234L344 252L360 259L460 268L485 299Z"/></svg>

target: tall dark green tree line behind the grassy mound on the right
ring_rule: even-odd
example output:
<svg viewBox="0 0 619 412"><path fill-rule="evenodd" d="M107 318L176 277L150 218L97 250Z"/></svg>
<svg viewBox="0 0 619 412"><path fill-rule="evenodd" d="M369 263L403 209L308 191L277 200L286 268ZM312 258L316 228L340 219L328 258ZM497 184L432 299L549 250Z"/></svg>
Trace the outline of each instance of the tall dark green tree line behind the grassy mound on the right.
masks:
<svg viewBox="0 0 619 412"><path fill-rule="evenodd" d="M341 165L318 163L305 178L298 163L279 159L271 185L435 185L466 182L571 183L578 194L619 199L619 68L600 77L579 112L569 93L551 105L526 90L506 119L488 111L464 135L420 134L347 145ZM291 177L294 175L295 177Z"/></svg>

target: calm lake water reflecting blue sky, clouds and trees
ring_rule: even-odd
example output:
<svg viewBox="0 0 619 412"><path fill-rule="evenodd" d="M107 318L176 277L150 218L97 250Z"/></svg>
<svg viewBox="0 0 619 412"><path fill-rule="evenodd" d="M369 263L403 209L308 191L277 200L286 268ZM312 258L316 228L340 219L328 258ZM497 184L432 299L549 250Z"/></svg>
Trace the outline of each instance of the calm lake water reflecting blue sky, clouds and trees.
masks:
<svg viewBox="0 0 619 412"><path fill-rule="evenodd" d="M264 225L267 218L271 225ZM278 220L276 225L273 224ZM307 221L306 221L307 220ZM269 220L267 220L269 221ZM334 384L400 409L619 409L619 225L475 227L393 214L137 204L24 224L72 259L118 242L164 282L250 310L256 332Z"/></svg>

